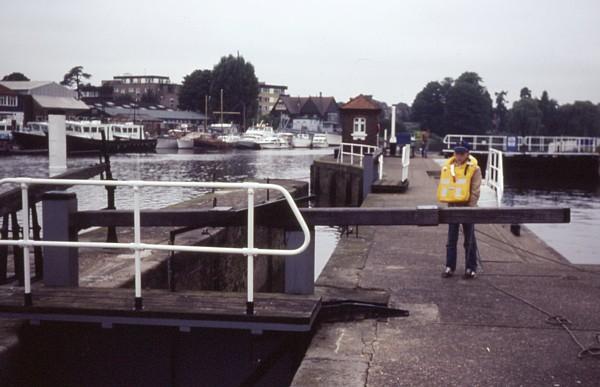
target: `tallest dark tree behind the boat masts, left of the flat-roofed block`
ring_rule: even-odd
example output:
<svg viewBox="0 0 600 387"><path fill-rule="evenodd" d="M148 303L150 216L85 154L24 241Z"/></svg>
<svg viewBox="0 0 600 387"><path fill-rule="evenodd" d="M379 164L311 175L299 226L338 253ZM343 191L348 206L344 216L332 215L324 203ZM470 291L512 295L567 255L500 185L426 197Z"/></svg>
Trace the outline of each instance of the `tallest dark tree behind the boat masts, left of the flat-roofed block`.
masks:
<svg viewBox="0 0 600 387"><path fill-rule="evenodd" d="M256 117L258 111L258 79L254 66L241 56L224 56L212 70L211 106L220 110L223 90L223 110L245 113L241 122Z"/></svg>

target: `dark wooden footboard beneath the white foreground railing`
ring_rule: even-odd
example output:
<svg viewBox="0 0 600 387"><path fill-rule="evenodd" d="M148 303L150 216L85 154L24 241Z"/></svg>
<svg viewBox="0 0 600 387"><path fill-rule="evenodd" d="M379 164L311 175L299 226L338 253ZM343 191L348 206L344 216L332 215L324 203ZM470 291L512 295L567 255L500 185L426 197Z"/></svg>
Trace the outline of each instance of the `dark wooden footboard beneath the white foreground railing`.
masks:
<svg viewBox="0 0 600 387"><path fill-rule="evenodd" d="M23 306L21 289L0 288L0 314L96 318L169 319L310 326L320 309L318 296L255 294L255 314L246 314L245 293L144 290L144 309L133 308L133 290L49 288L32 291L33 306ZM29 317L28 317L29 316Z"/></svg>

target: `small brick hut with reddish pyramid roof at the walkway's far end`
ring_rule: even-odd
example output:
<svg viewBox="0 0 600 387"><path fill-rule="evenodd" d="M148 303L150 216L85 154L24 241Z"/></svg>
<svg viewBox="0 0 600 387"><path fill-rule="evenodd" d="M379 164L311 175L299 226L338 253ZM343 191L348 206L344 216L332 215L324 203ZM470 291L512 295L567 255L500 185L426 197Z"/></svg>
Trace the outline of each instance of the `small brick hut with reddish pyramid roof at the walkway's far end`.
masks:
<svg viewBox="0 0 600 387"><path fill-rule="evenodd" d="M342 141L377 145L381 107L370 95L360 94L340 106Z"/></svg>

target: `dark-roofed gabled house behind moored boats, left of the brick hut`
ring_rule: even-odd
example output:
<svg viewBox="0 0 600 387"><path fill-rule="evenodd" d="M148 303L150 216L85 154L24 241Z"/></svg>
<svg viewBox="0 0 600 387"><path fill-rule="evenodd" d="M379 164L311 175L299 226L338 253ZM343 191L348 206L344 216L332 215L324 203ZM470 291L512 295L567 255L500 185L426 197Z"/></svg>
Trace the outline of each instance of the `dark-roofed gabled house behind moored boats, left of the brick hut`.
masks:
<svg viewBox="0 0 600 387"><path fill-rule="evenodd" d="M339 128L339 108L334 97L291 97L281 95L271 116L279 129L308 132L335 132Z"/></svg>

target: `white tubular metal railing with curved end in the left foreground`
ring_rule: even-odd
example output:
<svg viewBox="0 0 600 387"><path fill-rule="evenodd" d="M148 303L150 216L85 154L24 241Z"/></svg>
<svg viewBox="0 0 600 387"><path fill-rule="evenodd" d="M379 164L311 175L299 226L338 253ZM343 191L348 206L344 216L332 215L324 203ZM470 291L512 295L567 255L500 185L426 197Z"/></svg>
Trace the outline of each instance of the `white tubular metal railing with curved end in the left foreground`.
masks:
<svg viewBox="0 0 600 387"><path fill-rule="evenodd" d="M287 190L277 184L265 183L220 183L220 182L170 182L170 181L118 181L118 180L73 180L73 179L34 179L27 177L0 179L2 184L18 184L21 188L22 216L23 216L23 239L20 240L1 240L0 245L16 245L23 248L24 259L24 277L25 277L25 302L31 303L31 278L29 249L36 246L48 247L89 247L89 248L108 248L108 249L131 249L135 257L135 299L136 308L142 305L142 274L141 274L141 254L142 250L166 250L197 253L216 253L216 254L241 254L247 256L247 302L248 310L251 312L254 305L254 256L265 255L296 255L304 251L310 243L310 232L300 210L296 206L294 199ZM134 241L133 243L113 243L113 242L73 242L73 241L39 241L29 237L29 197L28 189L31 185L96 185L96 186L118 186L133 188L133 223L134 223ZM246 247L214 247L214 246L185 246L185 245L161 245L142 243L141 241L141 223L140 223L140 191L143 187L185 187L185 188L229 188L245 189L248 200L248 220L247 220L247 246ZM254 191L256 189L269 189L281 192L288 202L300 228L304 234L304 242L296 249L262 249L254 247ZM29 301L28 301L29 300Z"/></svg>

